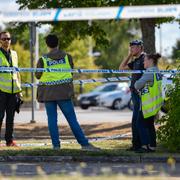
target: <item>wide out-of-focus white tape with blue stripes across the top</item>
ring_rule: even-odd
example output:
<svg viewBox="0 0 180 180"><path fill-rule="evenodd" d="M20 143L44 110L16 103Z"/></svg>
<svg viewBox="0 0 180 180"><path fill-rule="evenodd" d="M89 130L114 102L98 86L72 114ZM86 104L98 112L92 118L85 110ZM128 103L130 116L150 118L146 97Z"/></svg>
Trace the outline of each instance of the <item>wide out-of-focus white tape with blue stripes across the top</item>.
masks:
<svg viewBox="0 0 180 180"><path fill-rule="evenodd" d="M77 21L104 19L132 19L155 17L180 17L179 4L34 9L0 12L2 22Z"/></svg>

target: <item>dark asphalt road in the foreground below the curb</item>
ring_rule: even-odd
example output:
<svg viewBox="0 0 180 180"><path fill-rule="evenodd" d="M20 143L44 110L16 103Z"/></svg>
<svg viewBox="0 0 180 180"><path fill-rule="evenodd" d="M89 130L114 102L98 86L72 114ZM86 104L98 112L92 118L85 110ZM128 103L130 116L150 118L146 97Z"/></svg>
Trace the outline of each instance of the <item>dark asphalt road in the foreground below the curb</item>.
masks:
<svg viewBox="0 0 180 180"><path fill-rule="evenodd" d="M65 174L74 176L80 173L83 176L97 175L128 175L128 176L163 176L180 178L180 164L169 166L164 163L3 163L0 164L0 174L3 176L25 176ZM170 176L170 177L169 177ZM164 178L163 178L164 179Z"/></svg>

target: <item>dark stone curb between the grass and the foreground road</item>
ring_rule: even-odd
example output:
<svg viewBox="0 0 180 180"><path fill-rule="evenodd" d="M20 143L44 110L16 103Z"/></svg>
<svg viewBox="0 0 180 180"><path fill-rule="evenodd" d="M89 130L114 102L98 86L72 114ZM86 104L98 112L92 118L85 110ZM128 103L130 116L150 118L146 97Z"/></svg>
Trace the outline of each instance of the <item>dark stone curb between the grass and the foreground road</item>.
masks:
<svg viewBox="0 0 180 180"><path fill-rule="evenodd" d="M106 162L106 163L167 163L168 156L0 156L0 162ZM180 156L173 157L180 162Z"/></svg>

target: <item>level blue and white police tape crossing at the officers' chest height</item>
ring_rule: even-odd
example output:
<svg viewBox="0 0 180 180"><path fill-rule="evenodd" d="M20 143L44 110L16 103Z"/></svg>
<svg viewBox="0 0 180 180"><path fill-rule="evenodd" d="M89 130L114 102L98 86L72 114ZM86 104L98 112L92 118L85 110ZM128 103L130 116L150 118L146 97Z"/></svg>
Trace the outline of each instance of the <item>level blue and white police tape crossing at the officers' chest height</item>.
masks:
<svg viewBox="0 0 180 180"><path fill-rule="evenodd" d="M161 73L177 74L180 70L114 70L114 69L59 69L59 68L17 68L0 67L0 72L71 72L71 73L112 73L112 74L133 74L133 73Z"/></svg>

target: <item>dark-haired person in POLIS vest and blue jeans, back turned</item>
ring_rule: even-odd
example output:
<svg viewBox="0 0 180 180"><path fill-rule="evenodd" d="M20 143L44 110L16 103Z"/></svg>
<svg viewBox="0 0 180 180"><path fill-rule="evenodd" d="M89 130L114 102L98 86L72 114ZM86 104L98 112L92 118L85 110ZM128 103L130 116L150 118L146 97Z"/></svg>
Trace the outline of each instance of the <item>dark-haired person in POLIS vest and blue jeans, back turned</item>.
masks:
<svg viewBox="0 0 180 180"><path fill-rule="evenodd" d="M49 34L46 37L46 45L49 53L39 59L37 68L73 68L72 57L66 52L59 50L58 38L55 34ZM61 148L57 125L57 107L59 107L68 121L78 143L81 145L82 150L99 150L99 148L94 147L88 142L77 121L74 105L71 100L74 93L72 73L36 72L35 76L39 79L37 100L38 102L45 103L53 149L58 150Z"/></svg>

